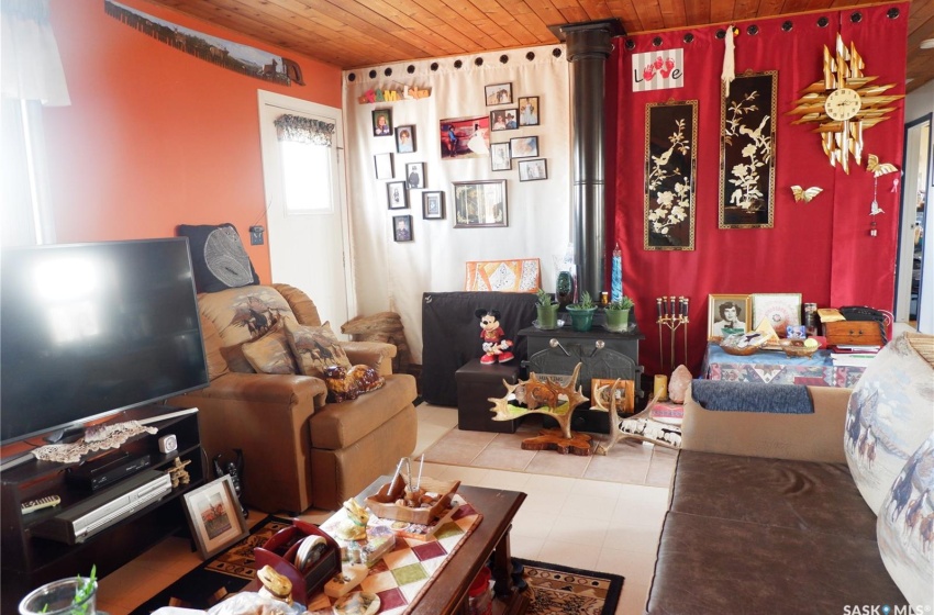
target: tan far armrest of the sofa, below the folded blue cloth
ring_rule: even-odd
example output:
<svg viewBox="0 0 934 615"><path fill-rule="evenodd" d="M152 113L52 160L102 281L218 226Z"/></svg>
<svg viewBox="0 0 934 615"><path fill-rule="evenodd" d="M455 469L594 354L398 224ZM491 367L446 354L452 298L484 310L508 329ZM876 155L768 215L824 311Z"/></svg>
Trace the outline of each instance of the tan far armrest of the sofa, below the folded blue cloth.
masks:
<svg viewBox="0 0 934 615"><path fill-rule="evenodd" d="M845 462L844 423L850 389L808 387L813 414L705 410L688 389L681 448L703 452Z"/></svg>

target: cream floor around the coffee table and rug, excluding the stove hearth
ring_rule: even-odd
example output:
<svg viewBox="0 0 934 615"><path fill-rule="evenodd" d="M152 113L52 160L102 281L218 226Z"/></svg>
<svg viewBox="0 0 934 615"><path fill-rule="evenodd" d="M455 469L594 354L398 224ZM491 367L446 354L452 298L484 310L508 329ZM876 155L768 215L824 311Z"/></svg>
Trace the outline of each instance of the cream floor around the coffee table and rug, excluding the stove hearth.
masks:
<svg viewBox="0 0 934 615"><path fill-rule="evenodd" d="M422 404L418 413L415 456L457 424L457 410L453 407ZM645 468L621 469L621 473L602 480L547 476L564 472L559 460L575 463L572 456L558 454L553 454L556 465L535 468L543 473L427 462L424 473L433 478L456 477L465 484L525 492L527 497L512 527L513 556L622 574L626 581L616 614L640 614L644 612L655 566L674 454L667 455L670 462L659 461L653 472L653 447L627 446L631 450L626 455L633 457L629 462L638 465L638 458L644 457L649 460ZM320 523L330 515L331 512L309 511L302 517ZM252 512L249 525L264 516ZM98 607L110 615L124 615L200 563L188 540L169 538L102 579Z"/></svg>

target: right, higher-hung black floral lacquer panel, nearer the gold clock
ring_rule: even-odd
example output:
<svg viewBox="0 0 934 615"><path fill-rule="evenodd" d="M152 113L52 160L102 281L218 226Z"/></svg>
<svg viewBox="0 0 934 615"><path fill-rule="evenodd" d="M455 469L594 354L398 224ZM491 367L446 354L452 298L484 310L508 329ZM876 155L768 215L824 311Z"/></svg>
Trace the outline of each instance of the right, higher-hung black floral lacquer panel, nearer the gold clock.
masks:
<svg viewBox="0 0 934 615"><path fill-rule="evenodd" d="M737 76L720 110L720 228L771 228L778 72Z"/></svg>

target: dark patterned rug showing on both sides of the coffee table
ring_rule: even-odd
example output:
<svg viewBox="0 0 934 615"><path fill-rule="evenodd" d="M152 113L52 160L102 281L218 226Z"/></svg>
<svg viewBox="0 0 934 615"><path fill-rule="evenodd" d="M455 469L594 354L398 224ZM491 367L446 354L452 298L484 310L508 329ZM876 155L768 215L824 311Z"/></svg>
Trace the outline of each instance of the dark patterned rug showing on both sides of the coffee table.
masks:
<svg viewBox="0 0 934 615"><path fill-rule="evenodd" d="M137 606L131 615L149 615L160 606L208 610L246 586L255 577L253 548L263 545L283 527L287 518L268 516L257 523L247 538L205 561L162 592ZM623 578L516 558L530 585L535 615L613 615L623 589ZM381 611L385 611L382 608Z"/></svg>

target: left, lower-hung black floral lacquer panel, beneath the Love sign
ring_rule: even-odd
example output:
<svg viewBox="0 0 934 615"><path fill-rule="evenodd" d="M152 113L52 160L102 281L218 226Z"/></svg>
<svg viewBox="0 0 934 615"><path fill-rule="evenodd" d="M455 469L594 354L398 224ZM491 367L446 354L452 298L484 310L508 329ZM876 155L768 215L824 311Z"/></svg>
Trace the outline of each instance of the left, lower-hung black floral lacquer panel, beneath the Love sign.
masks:
<svg viewBox="0 0 934 615"><path fill-rule="evenodd" d="M694 249L698 101L645 108L647 250Z"/></svg>

